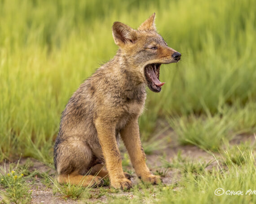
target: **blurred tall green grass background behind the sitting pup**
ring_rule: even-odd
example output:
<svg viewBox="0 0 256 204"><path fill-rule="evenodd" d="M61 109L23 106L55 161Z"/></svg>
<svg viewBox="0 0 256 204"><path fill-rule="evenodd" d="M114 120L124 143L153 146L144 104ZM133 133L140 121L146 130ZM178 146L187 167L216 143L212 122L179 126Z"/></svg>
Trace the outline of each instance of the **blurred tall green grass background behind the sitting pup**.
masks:
<svg viewBox="0 0 256 204"><path fill-rule="evenodd" d="M118 49L113 22L137 28L154 12L182 61L162 66L161 93L148 91L142 139L159 118L204 149L254 133L255 0L0 0L0 161L52 162L68 99Z"/></svg>

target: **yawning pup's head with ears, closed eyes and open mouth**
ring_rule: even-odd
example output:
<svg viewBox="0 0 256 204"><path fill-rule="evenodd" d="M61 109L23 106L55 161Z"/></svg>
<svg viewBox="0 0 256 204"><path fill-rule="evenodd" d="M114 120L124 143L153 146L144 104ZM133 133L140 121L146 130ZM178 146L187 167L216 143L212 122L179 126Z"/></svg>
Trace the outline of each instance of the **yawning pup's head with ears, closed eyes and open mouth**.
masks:
<svg viewBox="0 0 256 204"><path fill-rule="evenodd" d="M159 81L161 64L178 62L181 54L169 48L154 25L155 13L137 30L121 22L114 22L112 34L122 56L126 56L131 71L151 91L160 92L164 82Z"/></svg>

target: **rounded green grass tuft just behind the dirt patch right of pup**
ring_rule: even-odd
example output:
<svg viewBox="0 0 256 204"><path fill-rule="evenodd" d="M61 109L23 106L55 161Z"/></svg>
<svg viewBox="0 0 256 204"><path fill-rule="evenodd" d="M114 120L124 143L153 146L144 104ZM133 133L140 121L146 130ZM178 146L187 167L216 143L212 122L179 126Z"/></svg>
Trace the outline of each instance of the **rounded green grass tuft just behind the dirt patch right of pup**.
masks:
<svg viewBox="0 0 256 204"><path fill-rule="evenodd" d="M220 115L196 117L194 115L171 118L170 126L181 144L194 144L204 150L216 151L223 139L230 139L230 121Z"/></svg>

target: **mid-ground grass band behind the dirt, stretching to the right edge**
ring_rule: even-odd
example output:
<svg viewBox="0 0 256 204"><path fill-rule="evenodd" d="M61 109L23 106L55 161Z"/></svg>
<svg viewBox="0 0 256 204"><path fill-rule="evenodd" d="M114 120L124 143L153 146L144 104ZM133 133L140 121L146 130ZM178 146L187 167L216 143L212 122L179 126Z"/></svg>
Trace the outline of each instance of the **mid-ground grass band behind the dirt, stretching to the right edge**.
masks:
<svg viewBox="0 0 256 204"><path fill-rule="evenodd" d="M212 115L194 114L169 117L168 122L177 133L181 144L193 144L204 150L218 151L235 135L252 135L256 130L256 103L248 102L241 107L225 105Z"/></svg>

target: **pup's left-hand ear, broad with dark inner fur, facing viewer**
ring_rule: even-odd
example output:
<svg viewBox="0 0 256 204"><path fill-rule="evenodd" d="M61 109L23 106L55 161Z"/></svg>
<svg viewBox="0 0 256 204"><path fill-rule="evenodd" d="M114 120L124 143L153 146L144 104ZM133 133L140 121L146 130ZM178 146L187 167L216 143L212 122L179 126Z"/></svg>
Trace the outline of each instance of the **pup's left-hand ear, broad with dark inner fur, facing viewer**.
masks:
<svg viewBox="0 0 256 204"><path fill-rule="evenodd" d="M134 43L137 40L136 30L121 22L114 22L112 26L112 35L115 44L122 47L124 44Z"/></svg>

